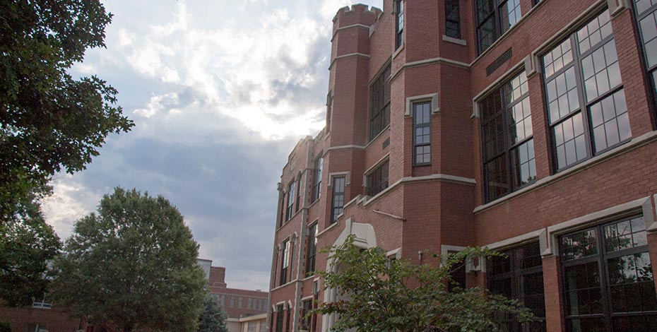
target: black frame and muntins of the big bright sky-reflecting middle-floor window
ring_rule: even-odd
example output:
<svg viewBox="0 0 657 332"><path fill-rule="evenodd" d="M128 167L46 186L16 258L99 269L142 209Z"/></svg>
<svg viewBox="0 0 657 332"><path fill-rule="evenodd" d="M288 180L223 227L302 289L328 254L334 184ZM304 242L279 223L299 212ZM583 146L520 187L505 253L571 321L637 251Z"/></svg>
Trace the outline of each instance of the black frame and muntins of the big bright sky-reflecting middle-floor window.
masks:
<svg viewBox="0 0 657 332"><path fill-rule="evenodd" d="M581 52L581 43L584 40L592 40L593 37L591 35L587 35L583 40L579 40L579 32L583 31L584 28L588 29L589 25L592 25L594 21L596 21L596 25L599 25L599 18L608 18L608 23L603 24L603 26L608 25L609 26L609 35L600 38L598 42L595 43L595 45L589 45L588 49L586 49L584 52ZM601 31L602 28L598 28L596 31ZM587 30L588 31L588 30ZM590 42L589 42L590 43ZM612 64L606 64L606 57L607 57L607 47L609 45L609 49L613 48L613 51L615 52L615 57L616 60ZM564 52L564 47L569 49ZM559 57L555 58L555 54L553 52L556 52L557 49L560 49L560 55ZM605 61L605 73L609 73L609 70L612 66L618 66L618 56L617 56L617 50L615 46L615 35L614 32L611 28L611 18L610 18L610 13L607 8L605 8L603 11L600 11L596 13L595 16L592 16L591 19L587 20L586 23L583 25L579 26L576 30L573 32L569 33L569 35L562 40L560 40L557 44L555 44L555 47L552 47L551 49L548 50L548 52L545 52L545 54L542 54L540 56L540 64L541 64L541 72L543 73L543 88L545 88L545 94L544 94L544 102L545 102L545 112L546 112L546 119L548 122L548 132L550 136L550 167L552 168L552 173L555 174L557 172L562 172L564 170L567 170L571 167L574 167L576 165L581 164L581 162L585 162L586 160L589 160L596 155L600 155L601 153L605 153L608 150L612 150L613 148L616 148L617 146L622 146L623 144L627 143L628 141L632 140L632 130L629 127L629 114L627 114L627 102L625 101L625 85L622 83L622 78L620 77L620 69L618 71L618 81L620 83L617 83L615 86L610 86L607 91L604 93L599 93L597 90L598 84L596 83L596 93L598 95L596 97L591 98L591 100L588 100L588 95L586 91L586 81L591 80L593 78L596 78L596 76L599 73L602 73L602 71L599 71L597 73L594 73L593 76L590 76L588 79L585 77L584 71L585 69L585 64L584 61L591 57L591 63L593 63L593 57L595 56L596 52L603 52L604 54L604 59ZM609 52L610 53L610 52ZM549 58L548 58L549 56ZM550 62L550 64L546 64L546 59ZM570 59L569 62L565 63L564 59ZM555 70L555 64L557 61L560 61L562 64L560 69ZM550 73L548 74L548 66L550 66ZM591 66L593 68L593 66ZM619 67L620 68L620 67ZM573 80L575 87L574 88L568 88L568 76L569 76L569 71L573 71L574 74ZM595 71L595 69L593 69ZM564 78L561 80L564 82L566 92L563 94L559 93L559 88L558 88L558 82L560 76L564 76ZM608 81L611 80L611 75L608 75ZM597 80L597 78L596 78ZM557 86L554 89L550 88L550 84L555 83ZM554 91L555 94L557 94L556 98L554 100L550 100L550 91ZM572 105L570 105L570 102L572 102L571 98L571 93L576 93L577 95L577 104L576 107L573 108ZM567 97L567 106L568 109L573 108L572 110L568 110L567 113L564 115L561 115L561 105L558 105L560 102L562 102L562 97ZM620 129L618 126L618 119L620 119L621 116L627 115L627 129L629 129L629 136L627 138L620 138L619 141L616 143L612 144L607 144L605 148L596 148L596 137L594 134L594 130L599 128L600 126L605 127L606 124L608 124L607 120L602 120L602 124L598 124L598 126L595 126L593 123L593 117L591 115L591 109L593 107L599 106L600 111L598 111L600 114L603 112L606 113L606 111L602 110L602 107L606 101L608 101L611 98L611 104L614 105L614 112L615 112L615 117L611 121L615 121L617 125L617 134L619 135L620 138ZM617 100L622 100L617 101ZM621 114L616 114L617 112L617 106L616 102L619 103L619 105L622 107L625 107L625 112L621 112ZM608 105L609 103L607 103ZM556 111L552 110L552 105L555 105ZM552 112L557 112L559 117L552 121ZM565 112L565 111L564 111ZM601 117L602 115L600 115ZM575 125L579 125L581 123L582 129L575 129ZM569 129L573 128L573 133L572 137L571 134L569 134ZM566 131L568 130L568 132ZM581 130L581 132L580 132ZM563 142L558 142L557 141L557 131L561 131L561 134L558 135L560 139L558 141L563 141ZM578 134L579 132L579 134ZM569 137L567 139L567 137ZM580 137L582 137L580 139ZM606 130L605 130L605 143L606 138L607 138ZM583 141L582 141L583 140ZM574 162L568 162L568 150L567 146L569 143L572 144L570 146L574 146ZM563 160L564 160L564 165L560 166L560 148L563 147ZM583 154L583 157L580 157L580 155Z"/></svg>

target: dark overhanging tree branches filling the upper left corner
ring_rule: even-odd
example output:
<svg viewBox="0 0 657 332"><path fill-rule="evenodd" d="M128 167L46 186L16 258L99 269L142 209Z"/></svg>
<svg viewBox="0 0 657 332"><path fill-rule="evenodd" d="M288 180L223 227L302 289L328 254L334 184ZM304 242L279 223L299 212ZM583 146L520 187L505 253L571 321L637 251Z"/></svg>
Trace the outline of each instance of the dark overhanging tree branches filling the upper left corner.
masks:
<svg viewBox="0 0 657 332"><path fill-rule="evenodd" d="M111 18L97 0L0 1L0 221L56 172L83 170L108 134L134 125L112 86L68 73L86 49L105 47Z"/></svg>

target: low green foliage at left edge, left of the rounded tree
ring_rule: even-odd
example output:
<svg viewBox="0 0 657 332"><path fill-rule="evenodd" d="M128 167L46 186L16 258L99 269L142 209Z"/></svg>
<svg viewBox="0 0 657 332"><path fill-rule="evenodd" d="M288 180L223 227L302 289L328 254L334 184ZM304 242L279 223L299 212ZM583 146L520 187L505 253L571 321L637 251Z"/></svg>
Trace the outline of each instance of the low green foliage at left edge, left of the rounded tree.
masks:
<svg viewBox="0 0 657 332"><path fill-rule="evenodd" d="M0 299L8 307L32 304L43 297L47 261L57 255L60 242L45 223L35 194L16 203L11 218L0 223Z"/></svg>

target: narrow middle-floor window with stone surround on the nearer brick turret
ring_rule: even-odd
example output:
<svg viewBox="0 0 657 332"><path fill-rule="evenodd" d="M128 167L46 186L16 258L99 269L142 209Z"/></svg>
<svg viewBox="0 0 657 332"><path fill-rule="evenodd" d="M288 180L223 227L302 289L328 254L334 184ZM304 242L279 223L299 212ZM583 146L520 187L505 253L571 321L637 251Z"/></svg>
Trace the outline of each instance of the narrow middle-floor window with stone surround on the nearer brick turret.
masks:
<svg viewBox="0 0 657 332"><path fill-rule="evenodd" d="M431 102L413 104L413 146L415 165L431 164Z"/></svg>

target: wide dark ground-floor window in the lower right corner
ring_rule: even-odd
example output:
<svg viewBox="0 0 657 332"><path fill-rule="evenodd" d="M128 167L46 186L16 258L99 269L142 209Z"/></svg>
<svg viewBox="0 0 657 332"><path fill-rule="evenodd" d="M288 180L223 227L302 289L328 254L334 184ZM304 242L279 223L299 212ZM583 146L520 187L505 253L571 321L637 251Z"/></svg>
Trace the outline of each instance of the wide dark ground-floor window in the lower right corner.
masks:
<svg viewBox="0 0 657 332"><path fill-rule="evenodd" d="M655 331L646 225L637 216L560 239L567 331Z"/></svg>

